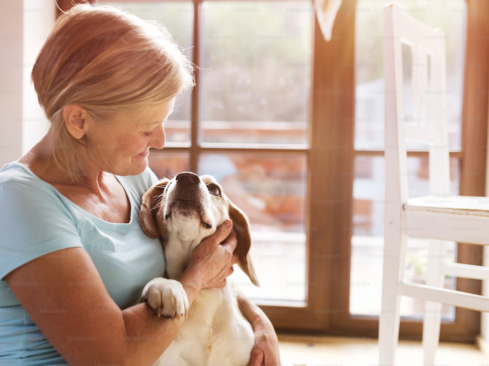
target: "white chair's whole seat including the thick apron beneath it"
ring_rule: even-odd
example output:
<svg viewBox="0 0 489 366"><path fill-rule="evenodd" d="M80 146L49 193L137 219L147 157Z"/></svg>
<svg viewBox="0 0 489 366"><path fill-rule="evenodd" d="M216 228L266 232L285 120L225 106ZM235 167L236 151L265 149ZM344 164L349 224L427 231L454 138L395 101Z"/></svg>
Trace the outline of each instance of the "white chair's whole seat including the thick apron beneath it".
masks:
<svg viewBox="0 0 489 366"><path fill-rule="evenodd" d="M416 197L403 208L409 237L489 245L489 197Z"/></svg>

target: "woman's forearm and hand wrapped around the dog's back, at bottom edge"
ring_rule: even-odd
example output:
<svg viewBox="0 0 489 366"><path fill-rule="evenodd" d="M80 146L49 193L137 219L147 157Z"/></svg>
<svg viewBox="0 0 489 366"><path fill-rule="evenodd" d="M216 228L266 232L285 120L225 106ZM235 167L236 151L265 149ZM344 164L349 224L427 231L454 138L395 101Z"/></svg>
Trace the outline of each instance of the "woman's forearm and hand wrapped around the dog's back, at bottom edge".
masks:
<svg viewBox="0 0 489 366"><path fill-rule="evenodd" d="M238 289L238 305L244 317L251 323L255 344L251 350L249 366L280 366L277 334L267 315Z"/></svg>

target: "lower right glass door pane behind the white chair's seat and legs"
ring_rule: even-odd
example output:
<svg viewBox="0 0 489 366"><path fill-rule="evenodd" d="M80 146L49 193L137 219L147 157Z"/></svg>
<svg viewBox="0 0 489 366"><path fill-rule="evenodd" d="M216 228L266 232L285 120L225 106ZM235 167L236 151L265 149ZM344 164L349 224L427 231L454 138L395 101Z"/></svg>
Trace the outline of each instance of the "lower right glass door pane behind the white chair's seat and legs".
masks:
<svg viewBox="0 0 489 366"><path fill-rule="evenodd" d="M428 194L428 159L410 157L408 165L409 196ZM450 159L451 193L459 192L459 161ZM385 167L383 157L359 156L355 159L353 186L352 258L350 277L350 312L356 315L377 316L380 312L382 291L382 263L384 236ZM447 242L450 248L448 260L456 261L456 244ZM427 240L409 238L406 256L405 280L422 283L426 276L429 258ZM446 279L445 287L455 288L453 279ZM421 317L423 301L403 298L400 314ZM442 307L444 319L455 315L451 306Z"/></svg>

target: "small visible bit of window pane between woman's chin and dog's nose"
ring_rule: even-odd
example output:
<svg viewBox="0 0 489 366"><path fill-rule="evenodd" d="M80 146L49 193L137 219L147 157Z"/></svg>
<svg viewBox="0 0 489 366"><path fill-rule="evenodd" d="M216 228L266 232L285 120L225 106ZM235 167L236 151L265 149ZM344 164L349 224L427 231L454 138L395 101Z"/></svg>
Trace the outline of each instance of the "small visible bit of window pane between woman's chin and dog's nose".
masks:
<svg viewBox="0 0 489 366"><path fill-rule="evenodd" d="M190 170L190 158L187 152L169 150L151 150L148 156L149 166L158 178L173 178L179 172Z"/></svg>

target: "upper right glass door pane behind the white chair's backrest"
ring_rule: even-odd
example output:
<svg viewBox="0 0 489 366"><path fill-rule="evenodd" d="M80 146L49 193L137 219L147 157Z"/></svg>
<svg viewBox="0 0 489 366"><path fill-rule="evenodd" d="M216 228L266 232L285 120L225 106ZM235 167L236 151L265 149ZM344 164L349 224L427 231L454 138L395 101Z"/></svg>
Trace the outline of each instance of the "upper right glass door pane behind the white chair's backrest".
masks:
<svg viewBox="0 0 489 366"><path fill-rule="evenodd" d="M405 6L402 9L407 14L445 31L449 145L451 148L460 149L466 1L403 0L400 3ZM355 149L357 150L384 150L382 57L384 5L384 1L378 0L358 0L357 5L354 65L356 72ZM403 69L412 66L410 58L403 60L403 66ZM408 109L406 112L409 113Z"/></svg>

